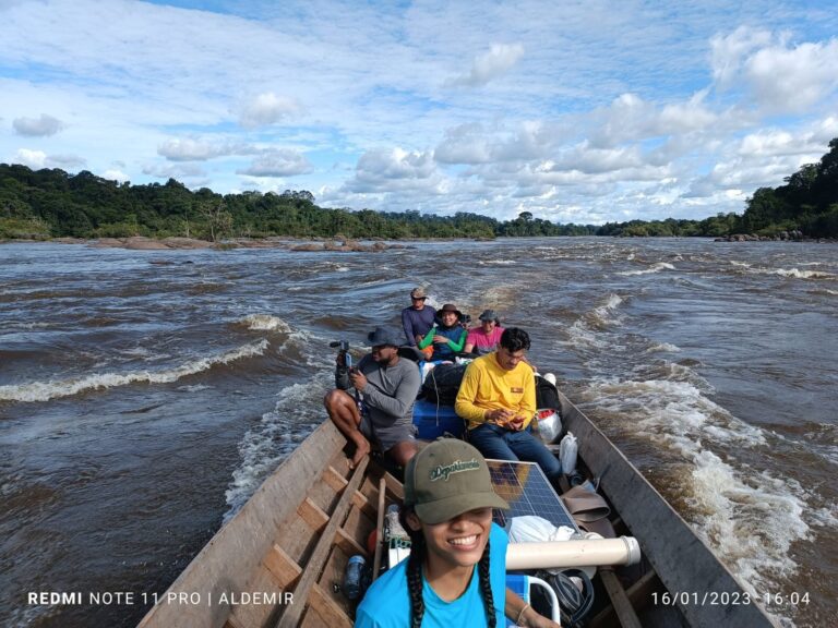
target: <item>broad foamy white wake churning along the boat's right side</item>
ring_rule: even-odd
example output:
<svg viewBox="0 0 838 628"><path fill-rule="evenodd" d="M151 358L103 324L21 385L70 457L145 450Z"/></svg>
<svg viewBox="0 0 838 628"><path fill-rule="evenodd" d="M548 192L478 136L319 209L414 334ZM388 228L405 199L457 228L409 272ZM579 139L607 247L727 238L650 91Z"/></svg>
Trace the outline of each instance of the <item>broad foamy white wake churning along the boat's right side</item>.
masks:
<svg viewBox="0 0 838 628"><path fill-rule="evenodd" d="M562 345L592 373L578 394L580 409L634 459L746 591L762 595L778 582L791 585L800 569L795 544L828 530L838 512L817 507L824 500L817 487L773 469L774 452L797 445L716 403L716 390L695 369L701 362L667 360L682 350L633 333L624 304L609 294L567 329L570 342ZM781 611L775 618L793 626L788 608Z"/></svg>

